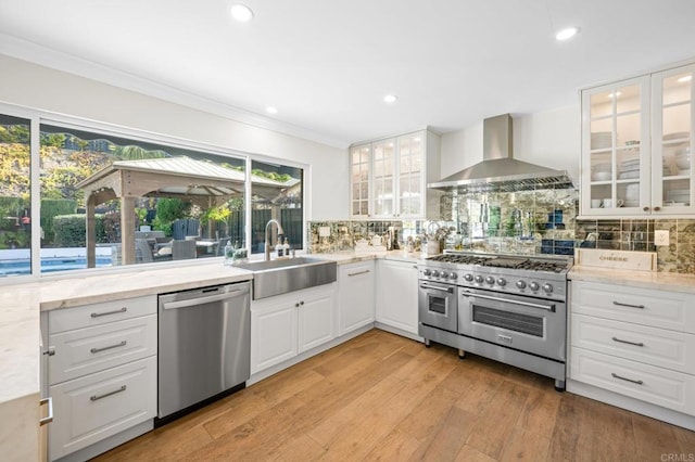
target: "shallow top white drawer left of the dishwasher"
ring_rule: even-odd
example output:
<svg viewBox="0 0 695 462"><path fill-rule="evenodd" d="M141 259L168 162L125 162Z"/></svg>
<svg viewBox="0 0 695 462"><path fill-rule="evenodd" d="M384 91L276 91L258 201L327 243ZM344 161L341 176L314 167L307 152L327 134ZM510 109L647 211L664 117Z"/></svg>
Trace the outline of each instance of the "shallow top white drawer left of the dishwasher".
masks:
<svg viewBox="0 0 695 462"><path fill-rule="evenodd" d="M156 295L55 309L49 311L48 329L54 334L146 315L156 315Z"/></svg>

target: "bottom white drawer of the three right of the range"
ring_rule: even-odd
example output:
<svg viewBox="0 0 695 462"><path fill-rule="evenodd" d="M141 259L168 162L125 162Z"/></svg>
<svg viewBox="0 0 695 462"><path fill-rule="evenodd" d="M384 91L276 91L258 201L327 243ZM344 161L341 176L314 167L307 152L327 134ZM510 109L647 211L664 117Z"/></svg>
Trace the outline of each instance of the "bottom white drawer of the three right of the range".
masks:
<svg viewBox="0 0 695 462"><path fill-rule="evenodd" d="M695 376L571 348L570 378L695 415Z"/></svg>

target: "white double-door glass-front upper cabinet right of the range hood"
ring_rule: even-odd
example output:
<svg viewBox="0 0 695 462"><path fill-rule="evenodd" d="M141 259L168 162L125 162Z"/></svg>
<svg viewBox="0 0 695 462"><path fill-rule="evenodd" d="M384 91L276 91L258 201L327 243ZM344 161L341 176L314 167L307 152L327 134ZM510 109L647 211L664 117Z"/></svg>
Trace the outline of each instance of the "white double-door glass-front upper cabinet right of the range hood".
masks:
<svg viewBox="0 0 695 462"><path fill-rule="evenodd" d="M582 91L581 215L695 211L695 65Z"/></svg>

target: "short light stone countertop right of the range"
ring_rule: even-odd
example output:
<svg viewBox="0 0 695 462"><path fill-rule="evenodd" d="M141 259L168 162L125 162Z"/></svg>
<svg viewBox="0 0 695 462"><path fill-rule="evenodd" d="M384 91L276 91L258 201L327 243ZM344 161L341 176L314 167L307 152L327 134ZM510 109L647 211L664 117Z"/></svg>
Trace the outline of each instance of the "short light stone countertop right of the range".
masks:
<svg viewBox="0 0 695 462"><path fill-rule="evenodd" d="M632 287L695 294L695 275L658 271L630 271L576 265L569 271L572 281L603 282Z"/></svg>

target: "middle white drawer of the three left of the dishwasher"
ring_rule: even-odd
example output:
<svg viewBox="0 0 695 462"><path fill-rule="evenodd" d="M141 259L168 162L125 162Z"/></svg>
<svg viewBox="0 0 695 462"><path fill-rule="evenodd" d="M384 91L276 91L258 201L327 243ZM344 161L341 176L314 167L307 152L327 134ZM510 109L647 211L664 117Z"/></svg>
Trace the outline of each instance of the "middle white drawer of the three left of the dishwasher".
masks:
<svg viewBox="0 0 695 462"><path fill-rule="evenodd" d="M49 335L50 384L156 355L156 315Z"/></svg>

